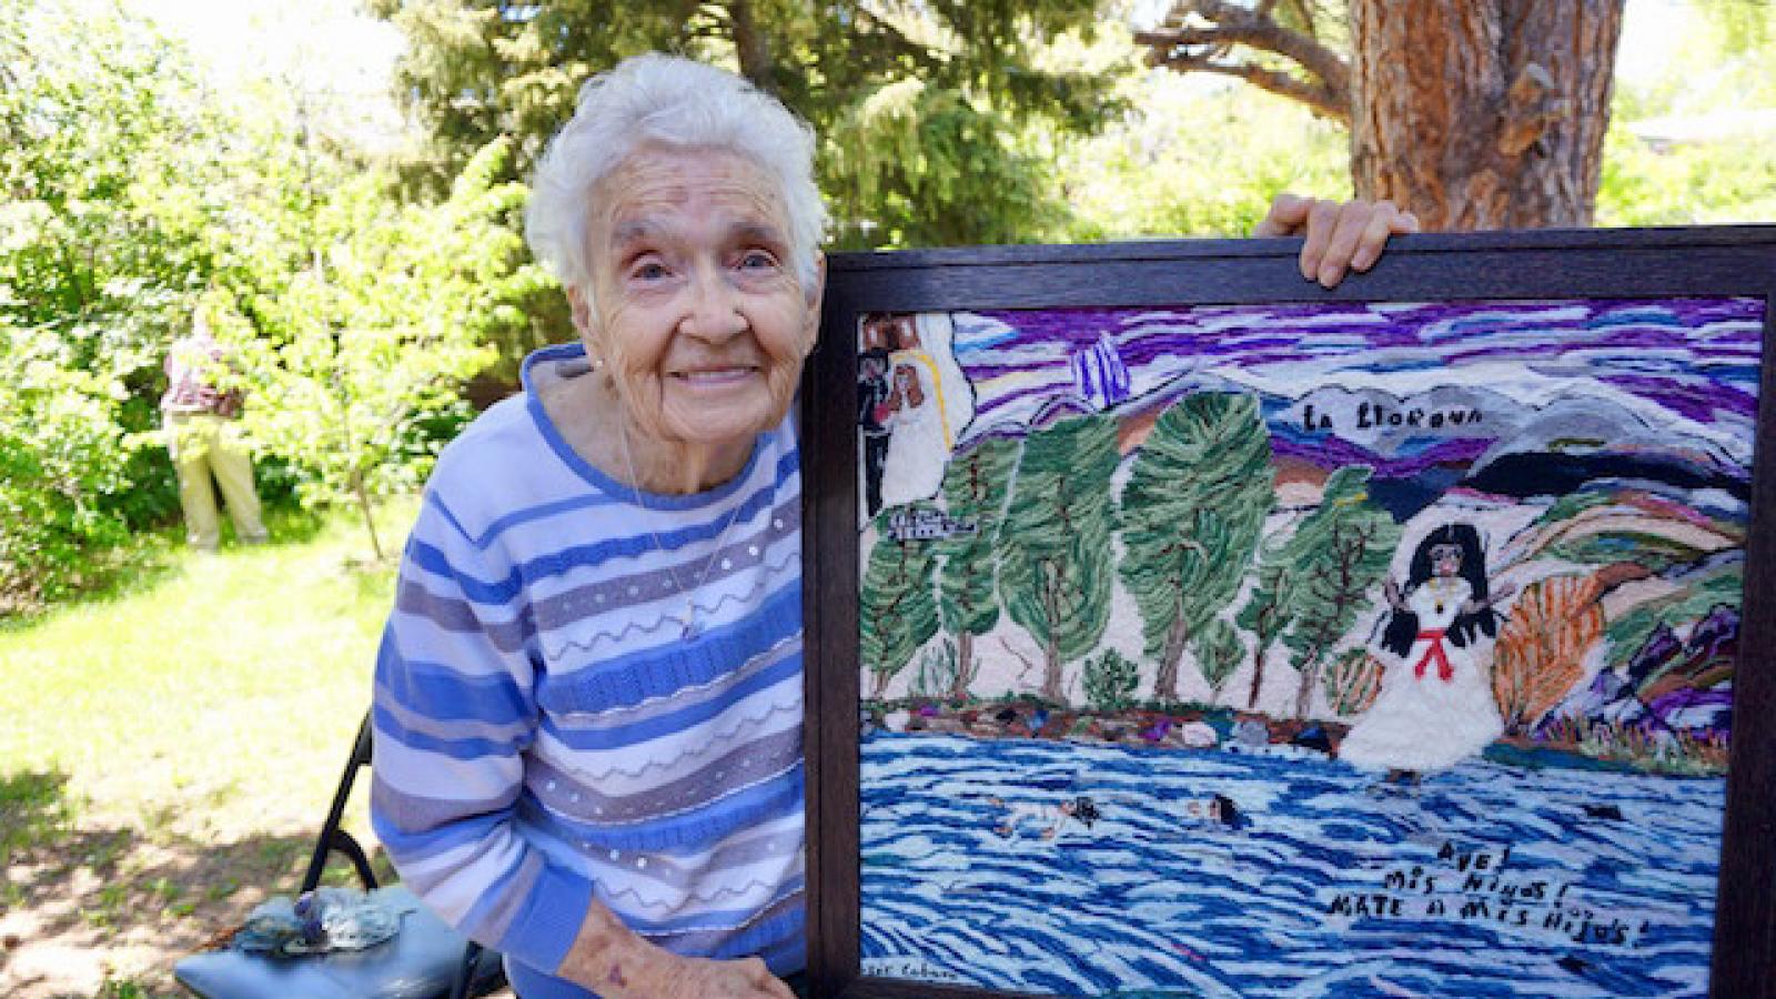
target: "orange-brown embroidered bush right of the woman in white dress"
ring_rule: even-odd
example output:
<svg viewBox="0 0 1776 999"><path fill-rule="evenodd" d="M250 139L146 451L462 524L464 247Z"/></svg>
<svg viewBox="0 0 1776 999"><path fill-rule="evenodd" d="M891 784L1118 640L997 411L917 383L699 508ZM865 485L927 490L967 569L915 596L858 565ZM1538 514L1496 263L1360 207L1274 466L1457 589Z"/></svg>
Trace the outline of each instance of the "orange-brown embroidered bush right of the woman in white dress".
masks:
<svg viewBox="0 0 1776 999"><path fill-rule="evenodd" d="M1492 647L1492 695L1504 731L1518 734L1584 679L1584 658L1604 636L1598 581L1554 576L1524 588Z"/></svg>

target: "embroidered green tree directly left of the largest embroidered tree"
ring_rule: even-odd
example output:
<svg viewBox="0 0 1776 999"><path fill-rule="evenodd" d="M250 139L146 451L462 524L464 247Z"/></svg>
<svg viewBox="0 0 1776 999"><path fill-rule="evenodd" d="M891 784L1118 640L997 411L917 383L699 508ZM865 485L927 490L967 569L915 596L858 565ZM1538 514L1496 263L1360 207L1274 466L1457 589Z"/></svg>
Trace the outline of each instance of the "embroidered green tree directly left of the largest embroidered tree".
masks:
<svg viewBox="0 0 1776 999"><path fill-rule="evenodd" d="M1115 432L1114 418L1083 416L1030 434L1000 526L1000 597L1043 647L1041 693L1057 704L1062 663L1110 622Z"/></svg>

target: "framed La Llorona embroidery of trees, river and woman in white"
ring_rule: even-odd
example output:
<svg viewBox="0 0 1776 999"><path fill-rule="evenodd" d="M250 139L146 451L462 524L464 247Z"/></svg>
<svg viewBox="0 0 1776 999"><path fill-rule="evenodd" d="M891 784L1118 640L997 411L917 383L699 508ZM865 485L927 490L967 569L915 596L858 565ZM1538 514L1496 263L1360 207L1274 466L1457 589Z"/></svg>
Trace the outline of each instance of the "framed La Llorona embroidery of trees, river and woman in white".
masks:
<svg viewBox="0 0 1776 999"><path fill-rule="evenodd" d="M1776 229L831 260L819 995L1776 995Z"/></svg>

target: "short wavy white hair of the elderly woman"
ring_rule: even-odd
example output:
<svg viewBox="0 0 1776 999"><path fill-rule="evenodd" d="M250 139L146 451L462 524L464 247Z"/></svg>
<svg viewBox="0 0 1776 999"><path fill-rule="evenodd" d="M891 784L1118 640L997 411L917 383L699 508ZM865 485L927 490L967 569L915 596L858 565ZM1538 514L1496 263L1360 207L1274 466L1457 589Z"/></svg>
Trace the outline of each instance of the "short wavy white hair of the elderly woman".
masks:
<svg viewBox="0 0 1776 999"><path fill-rule="evenodd" d="M790 272L812 293L826 206L813 183L813 130L728 73L661 53L625 59L579 89L579 107L536 164L524 236L565 288L591 293L591 190L638 146L742 155L783 187Z"/></svg>

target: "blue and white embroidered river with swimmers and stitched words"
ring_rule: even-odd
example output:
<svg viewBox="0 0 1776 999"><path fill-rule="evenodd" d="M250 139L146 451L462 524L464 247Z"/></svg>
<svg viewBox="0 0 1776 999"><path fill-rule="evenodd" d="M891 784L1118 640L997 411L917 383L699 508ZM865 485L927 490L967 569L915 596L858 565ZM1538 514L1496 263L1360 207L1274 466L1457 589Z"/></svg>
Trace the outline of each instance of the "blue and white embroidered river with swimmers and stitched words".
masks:
<svg viewBox="0 0 1776 999"><path fill-rule="evenodd" d="M1284 755L1286 754L1286 755ZM877 731L868 974L1053 995L1703 995L1724 779Z"/></svg>

